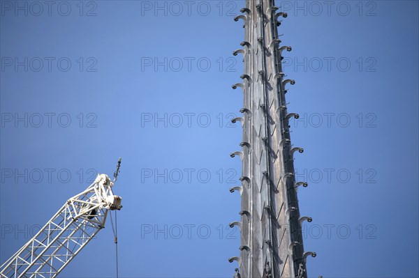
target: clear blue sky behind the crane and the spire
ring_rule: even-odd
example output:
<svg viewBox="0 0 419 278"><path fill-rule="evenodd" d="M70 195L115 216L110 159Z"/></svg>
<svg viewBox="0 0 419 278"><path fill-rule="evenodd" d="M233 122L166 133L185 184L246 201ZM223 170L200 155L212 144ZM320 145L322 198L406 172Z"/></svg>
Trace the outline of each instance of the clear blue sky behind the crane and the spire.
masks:
<svg viewBox="0 0 419 278"><path fill-rule="evenodd" d="M231 277L244 1L0 3L1 263L122 157L120 277ZM418 1L276 3L309 276L418 277Z"/></svg>

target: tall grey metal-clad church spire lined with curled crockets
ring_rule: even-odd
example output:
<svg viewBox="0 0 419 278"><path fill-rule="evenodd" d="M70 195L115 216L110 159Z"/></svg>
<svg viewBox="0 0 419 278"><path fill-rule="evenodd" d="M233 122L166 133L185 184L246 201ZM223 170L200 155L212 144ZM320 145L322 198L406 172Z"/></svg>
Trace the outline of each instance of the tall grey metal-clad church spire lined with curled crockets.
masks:
<svg viewBox="0 0 419 278"><path fill-rule="evenodd" d="M242 118L235 118L243 126L242 151L231 157L242 160L241 187L233 187L242 197L241 221L230 226L240 226L240 257L237 261L243 278L307 278L306 258L316 256L304 253L301 225L311 217L300 217L297 189L307 187L304 181L295 180L294 154L302 148L293 148L288 121L298 114L287 112L285 86L295 84L284 79L281 60L284 50L280 46L277 26L279 17L274 0L247 0L242 15L235 21L244 22L242 49L244 72L240 86L244 105ZM236 270L236 274L237 274Z"/></svg>

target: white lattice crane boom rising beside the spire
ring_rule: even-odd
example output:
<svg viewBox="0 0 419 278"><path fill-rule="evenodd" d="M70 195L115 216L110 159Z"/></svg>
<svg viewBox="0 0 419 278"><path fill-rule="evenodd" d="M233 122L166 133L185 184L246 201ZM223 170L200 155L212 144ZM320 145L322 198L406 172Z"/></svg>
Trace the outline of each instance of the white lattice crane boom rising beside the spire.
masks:
<svg viewBox="0 0 419 278"><path fill-rule="evenodd" d="M57 277L68 263L105 227L109 210L121 210L113 181L99 174L86 190L71 197L43 228L0 267L1 278Z"/></svg>

